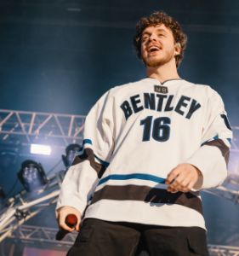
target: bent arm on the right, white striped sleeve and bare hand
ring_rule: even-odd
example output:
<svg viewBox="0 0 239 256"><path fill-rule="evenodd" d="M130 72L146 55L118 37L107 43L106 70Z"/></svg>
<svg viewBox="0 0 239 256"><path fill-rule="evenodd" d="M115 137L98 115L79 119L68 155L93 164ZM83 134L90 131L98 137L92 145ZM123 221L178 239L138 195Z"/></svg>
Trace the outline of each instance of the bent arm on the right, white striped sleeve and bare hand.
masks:
<svg viewBox="0 0 239 256"><path fill-rule="evenodd" d="M208 100L208 115L203 129L201 147L168 174L166 184L174 180L168 191L211 189L225 180L232 132L224 104L214 91Z"/></svg>

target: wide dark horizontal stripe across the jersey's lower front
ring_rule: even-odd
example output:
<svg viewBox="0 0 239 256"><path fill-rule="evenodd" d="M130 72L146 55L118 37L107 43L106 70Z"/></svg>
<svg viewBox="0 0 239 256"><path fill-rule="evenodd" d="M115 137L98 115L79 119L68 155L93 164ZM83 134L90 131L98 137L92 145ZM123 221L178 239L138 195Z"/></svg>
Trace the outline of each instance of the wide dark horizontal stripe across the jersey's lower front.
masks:
<svg viewBox="0 0 239 256"><path fill-rule="evenodd" d="M151 203L177 204L183 207L189 207L202 214L202 201L190 192L170 193L166 189L156 189L148 186L125 185L111 186L106 185L103 189L94 192L91 204L97 201L108 200L130 200L145 201Z"/></svg>

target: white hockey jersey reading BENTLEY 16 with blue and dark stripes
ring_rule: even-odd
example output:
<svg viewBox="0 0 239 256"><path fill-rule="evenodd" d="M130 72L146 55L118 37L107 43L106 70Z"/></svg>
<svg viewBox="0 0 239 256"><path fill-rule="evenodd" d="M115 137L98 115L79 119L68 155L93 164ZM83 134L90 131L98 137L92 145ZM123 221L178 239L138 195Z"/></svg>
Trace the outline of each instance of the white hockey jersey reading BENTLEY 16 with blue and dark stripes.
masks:
<svg viewBox="0 0 239 256"><path fill-rule="evenodd" d="M232 132L219 94L183 79L146 78L107 91L90 110L83 147L65 175L57 208L83 218L205 228L199 190L227 174ZM188 193L170 193L181 163L201 172Z"/></svg>

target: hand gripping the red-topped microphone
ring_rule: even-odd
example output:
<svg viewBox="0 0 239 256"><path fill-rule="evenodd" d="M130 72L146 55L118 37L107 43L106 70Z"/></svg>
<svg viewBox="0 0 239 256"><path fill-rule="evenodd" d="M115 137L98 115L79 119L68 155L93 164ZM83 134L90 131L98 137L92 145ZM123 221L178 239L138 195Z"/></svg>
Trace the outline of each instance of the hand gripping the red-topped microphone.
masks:
<svg viewBox="0 0 239 256"><path fill-rule="evenodd" d="M71 213L75 214L78 219L76 227L74 227L72 229L65 224L65 217ZM55 218L57 219L57 222L59 225L59 230L66 230L69 233L72 232L73 230L77 230L77 232L79 232L82 216L81 216L81 212L79 212L76 208L61 207L61 208L57 209Z"/></svg>

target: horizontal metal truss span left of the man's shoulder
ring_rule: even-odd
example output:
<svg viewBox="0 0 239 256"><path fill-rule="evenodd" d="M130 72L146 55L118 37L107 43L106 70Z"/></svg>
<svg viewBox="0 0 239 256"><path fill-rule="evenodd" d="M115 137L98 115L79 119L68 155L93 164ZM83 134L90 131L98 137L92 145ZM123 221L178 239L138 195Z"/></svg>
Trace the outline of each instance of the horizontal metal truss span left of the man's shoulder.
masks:
<svg viewBox="0 0 239 256"><path fill-rule="evenodd" d="M2 143L29 145L48 141L64 147L82 143L85 116L0 109Z"/></svg>

